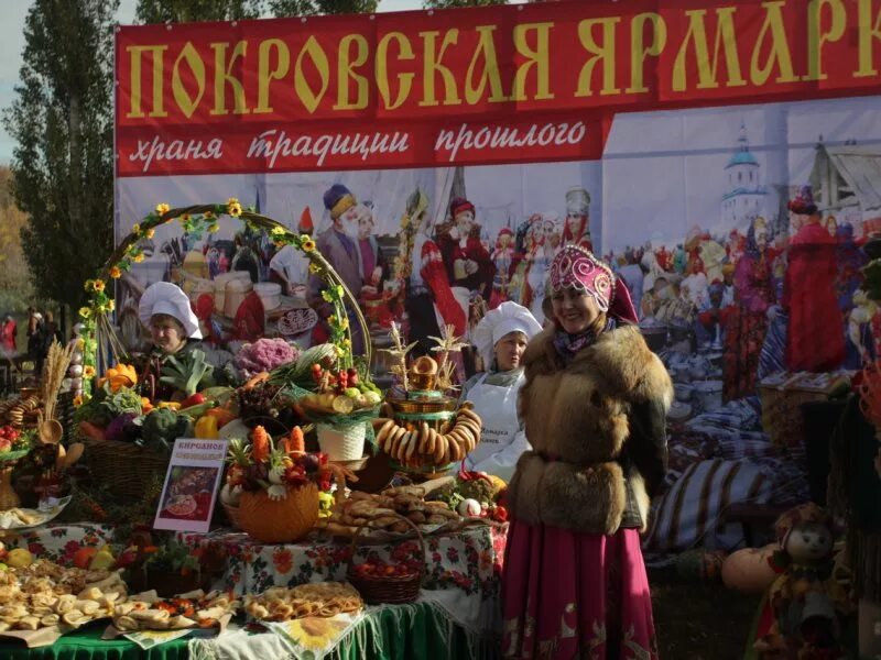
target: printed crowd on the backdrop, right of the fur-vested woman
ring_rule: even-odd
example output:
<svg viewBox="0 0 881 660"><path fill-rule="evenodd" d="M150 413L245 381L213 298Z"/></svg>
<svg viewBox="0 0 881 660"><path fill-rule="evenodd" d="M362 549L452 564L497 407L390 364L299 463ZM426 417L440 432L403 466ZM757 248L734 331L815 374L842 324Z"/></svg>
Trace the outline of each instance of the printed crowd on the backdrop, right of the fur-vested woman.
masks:
<svg viewBox="0 0 881 660"><path fill-rule="evenodd" d="M758 381L776 371L858 369L863 353L874 354L866 328L849 331L867 262L853 228L824 216L809 186L788 211L788 232L775 234L755 217L746 235L694 228L675 248L607 255L644 327L667 327L693 351L724 353L726 399L755 394Z"/></svg>

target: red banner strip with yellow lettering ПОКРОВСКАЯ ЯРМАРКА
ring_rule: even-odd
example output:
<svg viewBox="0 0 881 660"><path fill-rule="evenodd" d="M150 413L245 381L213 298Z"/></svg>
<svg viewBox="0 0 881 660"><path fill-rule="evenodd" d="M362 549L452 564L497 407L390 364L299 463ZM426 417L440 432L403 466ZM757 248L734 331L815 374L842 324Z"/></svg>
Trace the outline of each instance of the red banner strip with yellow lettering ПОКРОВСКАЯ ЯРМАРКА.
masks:
<svg viewBox="0 0 881 660"><path fill-rule="evenodd" d="M877 94L881 0L145 25L116 66L120 176L589 160L614 112Z"/></svg>

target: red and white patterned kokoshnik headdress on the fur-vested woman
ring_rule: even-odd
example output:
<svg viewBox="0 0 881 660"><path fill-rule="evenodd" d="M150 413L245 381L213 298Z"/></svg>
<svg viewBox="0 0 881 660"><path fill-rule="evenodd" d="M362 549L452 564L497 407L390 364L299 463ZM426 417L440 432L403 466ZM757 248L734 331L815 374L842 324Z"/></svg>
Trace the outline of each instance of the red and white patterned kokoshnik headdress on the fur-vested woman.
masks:
<svg viewBox="0 0 881 660"><path fill-rule="evenodd" d="M589 295L601 311L616 319L639 322L624 283L608 264L578 245L566 245L551 263L551 290L556 294L567 288Z"/></svg>

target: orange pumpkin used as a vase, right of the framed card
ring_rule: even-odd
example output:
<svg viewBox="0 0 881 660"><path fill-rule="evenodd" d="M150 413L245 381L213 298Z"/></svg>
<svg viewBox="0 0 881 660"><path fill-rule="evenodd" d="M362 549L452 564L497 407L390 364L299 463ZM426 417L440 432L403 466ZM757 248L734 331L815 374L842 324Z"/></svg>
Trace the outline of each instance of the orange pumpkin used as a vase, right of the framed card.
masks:
<svg viewBox="0 0 881 660"><path fill-rule="evenodd" d="M309 482L287 491L284 499L270 499L264 491L244 492L239 502L238 524L264 543L293 543L318 521L318 486Z"/></svg>

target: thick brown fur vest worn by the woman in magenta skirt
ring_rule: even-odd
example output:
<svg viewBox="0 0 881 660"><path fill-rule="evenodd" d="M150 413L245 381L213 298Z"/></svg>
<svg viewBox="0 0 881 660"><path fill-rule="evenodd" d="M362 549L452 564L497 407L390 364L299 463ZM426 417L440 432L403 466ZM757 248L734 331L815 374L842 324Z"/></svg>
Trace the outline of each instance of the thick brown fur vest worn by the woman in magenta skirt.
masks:
<svg viewBox="0 0 881 660"><path fill-rule="evenodd" d="M550 328L523 363L520 415L533 451L520 458L509 487L512 517L588 534L644 530L643 473L663 479L673 383L639 328L603 332L568 365Z"/></svg>

